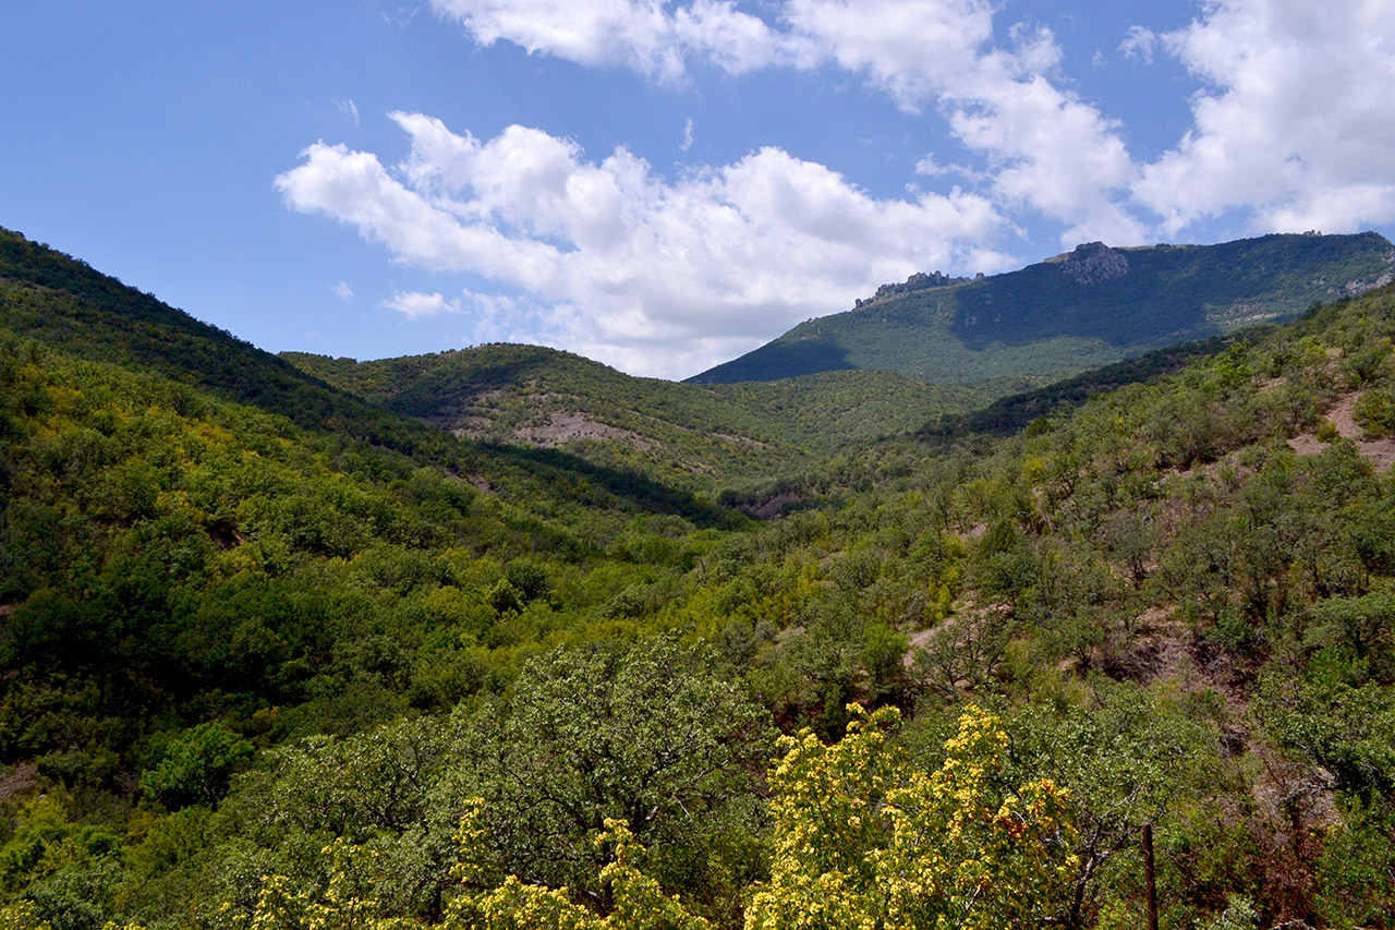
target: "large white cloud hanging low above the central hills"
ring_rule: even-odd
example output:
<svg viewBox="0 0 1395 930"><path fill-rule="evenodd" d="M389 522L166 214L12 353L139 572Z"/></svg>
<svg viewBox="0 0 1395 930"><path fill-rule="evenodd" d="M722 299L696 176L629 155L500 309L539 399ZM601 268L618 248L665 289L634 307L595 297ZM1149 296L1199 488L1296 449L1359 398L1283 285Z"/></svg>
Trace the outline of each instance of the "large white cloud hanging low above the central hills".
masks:
<svg viewBox="0 0 1395 930"><path fill-rule="evenodd" d="M597 162L536 128L478 140L420 113L392 119L412 142L400 165L311 145L276 179L287 205L398 261L491 278L550 338L631 371L692 374L918 270L1010 264L983 246L1003 218L957 189L880 200L778 148L665 182L625 148ZM389 306L420 317L476 304Z"/></svg>

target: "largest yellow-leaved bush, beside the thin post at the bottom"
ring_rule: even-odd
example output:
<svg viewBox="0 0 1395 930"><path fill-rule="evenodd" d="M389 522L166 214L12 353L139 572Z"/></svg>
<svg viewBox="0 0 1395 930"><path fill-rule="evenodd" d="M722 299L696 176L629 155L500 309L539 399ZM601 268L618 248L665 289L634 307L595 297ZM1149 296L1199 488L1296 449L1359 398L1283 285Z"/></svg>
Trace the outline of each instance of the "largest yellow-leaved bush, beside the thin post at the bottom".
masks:
<svg viewBox="0 0 1395 930"><path fill-rule="evenodd" d="M746 930L989 930L1048 916L1076 867L1066 796L1049 781L993 788L999 721L967 708L926 775L887 744L894 708L848 709L845 739L802 733L771 774L776 859Z"/></svg>

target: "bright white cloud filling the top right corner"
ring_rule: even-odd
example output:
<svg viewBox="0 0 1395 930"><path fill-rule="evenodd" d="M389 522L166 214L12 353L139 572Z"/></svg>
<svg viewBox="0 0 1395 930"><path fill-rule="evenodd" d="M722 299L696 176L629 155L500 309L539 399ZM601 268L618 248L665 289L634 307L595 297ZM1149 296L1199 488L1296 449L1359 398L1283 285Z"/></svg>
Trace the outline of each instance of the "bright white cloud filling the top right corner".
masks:
<svg viewBox="0 0 1395 930"><path fill-rule="evenodd" d="M1395 219L1395 17L1384 0L1225 0L1163 40L1207 89L1143 170L1175 233L1239 209L1256 232Z"/></svg>

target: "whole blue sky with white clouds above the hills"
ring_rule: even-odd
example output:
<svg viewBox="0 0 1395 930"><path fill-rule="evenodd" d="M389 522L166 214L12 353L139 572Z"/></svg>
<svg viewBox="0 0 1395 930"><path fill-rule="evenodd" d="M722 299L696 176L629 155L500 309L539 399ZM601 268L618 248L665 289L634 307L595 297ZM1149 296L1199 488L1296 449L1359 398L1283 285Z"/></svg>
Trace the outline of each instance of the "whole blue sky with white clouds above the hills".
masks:
<svg viewBox="0 0 1395 930"><path fill-rule="evenodd" d="M45 0L0 226L272 352L684 378L917 271L1395 237L1395 0Z"/></svg>

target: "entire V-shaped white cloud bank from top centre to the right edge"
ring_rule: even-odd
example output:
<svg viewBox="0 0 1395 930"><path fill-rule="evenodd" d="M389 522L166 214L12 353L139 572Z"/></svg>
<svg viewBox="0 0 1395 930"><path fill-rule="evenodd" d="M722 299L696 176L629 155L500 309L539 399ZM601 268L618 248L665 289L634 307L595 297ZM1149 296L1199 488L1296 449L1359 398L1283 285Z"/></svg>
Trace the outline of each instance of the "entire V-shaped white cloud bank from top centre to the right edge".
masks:
<svg viewBox="0 0 1395 930"><path fill-rule="evenodd" d="M681 82L698 61L739 74L837 67L901 109L935 105L986 165L1003 209L1080 239L1176 236L1233 211L1256 232L1348 230L1395 216L1395 18L1385 0L1205 0L1189 27L1136 25L1119 46L1169 53L1202 82L1194 126L1152 163L1057 74L1042 28L995 36L990 0L432 0L477 42ZM1141 209L1140 209L1141 208ZM1143 211L1152 216L1144 222Z"/></svg>

